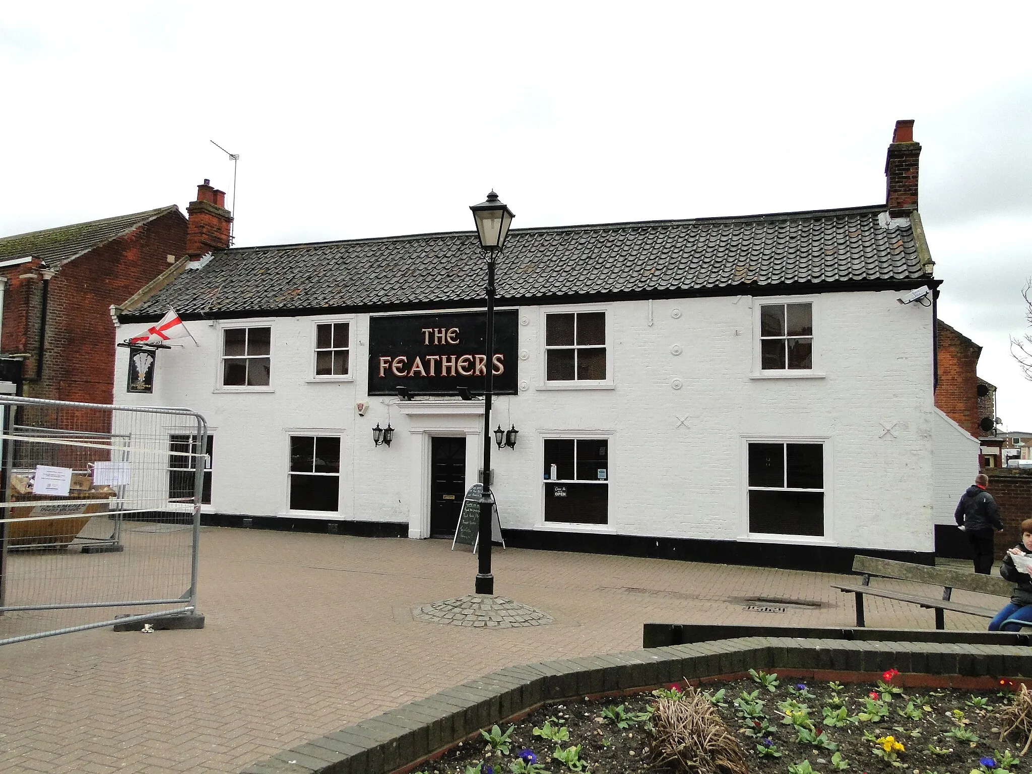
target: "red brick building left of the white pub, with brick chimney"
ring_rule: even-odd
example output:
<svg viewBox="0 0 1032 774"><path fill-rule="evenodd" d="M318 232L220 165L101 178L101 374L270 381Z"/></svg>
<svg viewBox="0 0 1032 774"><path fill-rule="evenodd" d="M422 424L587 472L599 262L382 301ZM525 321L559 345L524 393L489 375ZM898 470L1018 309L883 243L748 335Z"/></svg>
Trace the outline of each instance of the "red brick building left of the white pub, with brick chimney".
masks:
<svg viewBox="0 0 1032 774"><path fill-rule="evenodd" d="M170 204L0 237L0 357L22 362L25 395L112 401L111 305L229 246L225 194L207 183L189 221Z"/></svg>

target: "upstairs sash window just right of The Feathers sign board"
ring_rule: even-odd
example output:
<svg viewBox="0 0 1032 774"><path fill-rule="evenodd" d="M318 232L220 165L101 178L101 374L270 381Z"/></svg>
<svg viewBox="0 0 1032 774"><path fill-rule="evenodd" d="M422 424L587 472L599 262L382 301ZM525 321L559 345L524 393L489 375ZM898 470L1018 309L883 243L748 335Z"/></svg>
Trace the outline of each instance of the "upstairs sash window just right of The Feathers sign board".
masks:
<svg viewBox="0 0 1032 774"><path fill-rule="evenodd" d="M545 315L545 378L549 382L606 380L606 313Z"/></svg>

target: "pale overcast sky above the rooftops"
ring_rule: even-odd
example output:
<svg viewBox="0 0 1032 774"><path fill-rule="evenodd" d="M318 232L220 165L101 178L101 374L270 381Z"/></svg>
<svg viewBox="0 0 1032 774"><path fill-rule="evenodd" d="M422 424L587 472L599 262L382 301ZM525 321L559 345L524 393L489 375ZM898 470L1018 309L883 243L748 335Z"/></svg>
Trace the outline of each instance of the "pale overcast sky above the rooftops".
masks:
<svg viewBox="0 0 1032 774"><path fill-rule="evenodd" d="M237 245L884 201L923 146L940 317L1005 426L1032 278L1032 4L3 3L0 234L232 195ZM227 199L228 200L228 199Z"/></svg>

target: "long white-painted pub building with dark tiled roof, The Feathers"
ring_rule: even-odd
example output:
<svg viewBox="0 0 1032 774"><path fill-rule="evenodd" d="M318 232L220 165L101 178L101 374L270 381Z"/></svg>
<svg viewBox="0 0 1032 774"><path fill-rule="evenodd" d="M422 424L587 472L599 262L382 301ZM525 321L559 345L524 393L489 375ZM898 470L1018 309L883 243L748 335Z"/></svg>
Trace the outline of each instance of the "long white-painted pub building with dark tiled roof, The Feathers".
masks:
<svg viewBox="0 0 1032 774"><path fill-rule="evenodd" d="M174 309L196 346L159 350L150 392L119 348L116 402L206 418L207 523L451 538L486 442L510 546L928 561L970 481L937 474L967 440L933 402L911 126L885 204L514 228L490 356L472 230L180 261L115 310L117 335Z"/></svg>

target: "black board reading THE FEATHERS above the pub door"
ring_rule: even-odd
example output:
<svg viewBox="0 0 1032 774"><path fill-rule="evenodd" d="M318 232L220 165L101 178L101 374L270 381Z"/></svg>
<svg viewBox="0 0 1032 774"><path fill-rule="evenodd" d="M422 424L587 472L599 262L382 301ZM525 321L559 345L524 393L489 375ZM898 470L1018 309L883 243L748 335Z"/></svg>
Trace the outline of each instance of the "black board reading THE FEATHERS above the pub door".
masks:
<svg viewBox="0 0 1032 774"><path fill-rule="evenodd" d="M517 391L516 310L494 313L492 390ZM370 395L454 395L458 387L484 393L486 312L451 312L369 318Z"/></svg>

